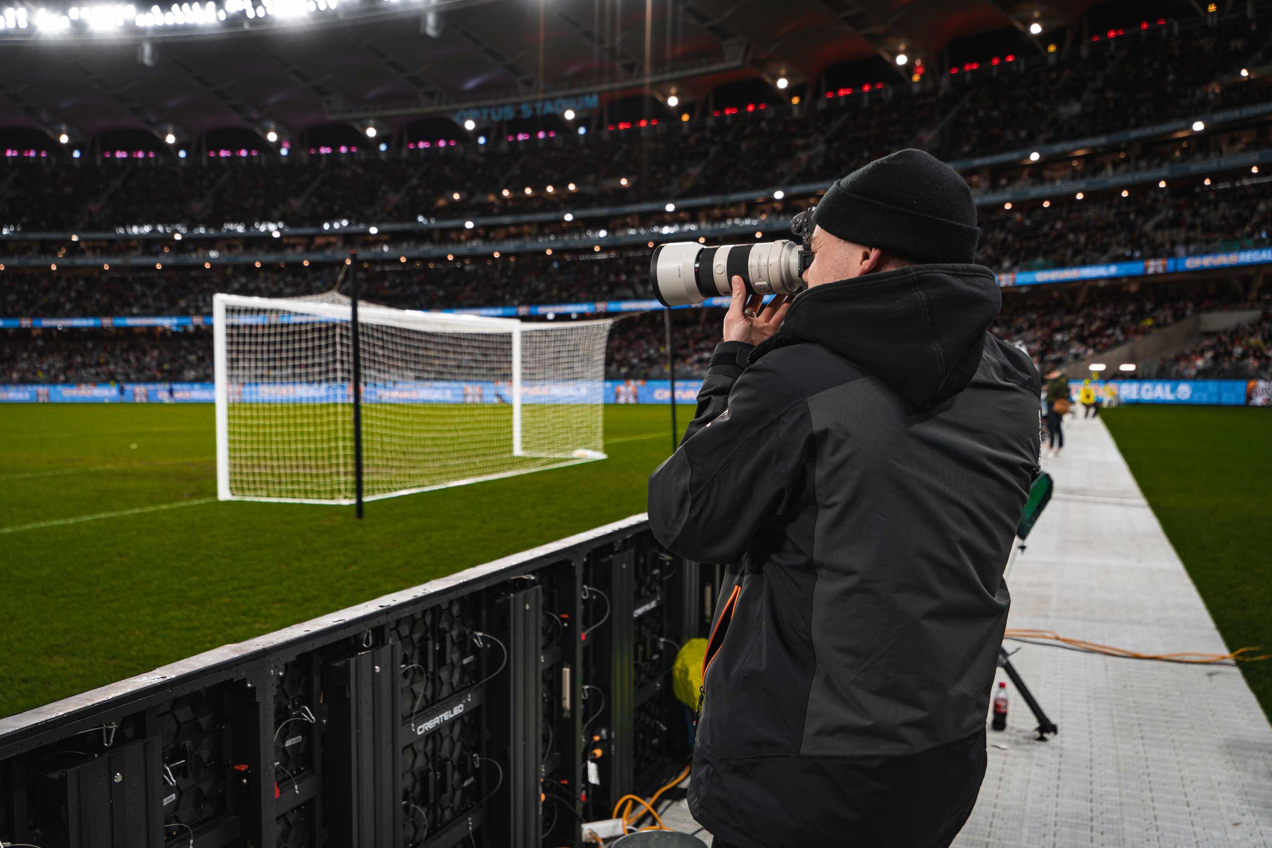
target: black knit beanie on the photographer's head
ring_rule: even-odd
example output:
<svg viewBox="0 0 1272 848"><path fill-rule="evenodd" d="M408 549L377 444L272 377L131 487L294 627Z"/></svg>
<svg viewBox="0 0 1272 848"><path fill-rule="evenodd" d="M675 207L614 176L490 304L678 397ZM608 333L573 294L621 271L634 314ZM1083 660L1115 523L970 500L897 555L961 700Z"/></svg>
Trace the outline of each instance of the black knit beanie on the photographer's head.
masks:
<svg viewBox="0 0 1272 848"><path fill-rule="evenodd" d="M958 172L898 150L831 186L813 221L831 235L904 259L976 262L976 203Z"/></svg>

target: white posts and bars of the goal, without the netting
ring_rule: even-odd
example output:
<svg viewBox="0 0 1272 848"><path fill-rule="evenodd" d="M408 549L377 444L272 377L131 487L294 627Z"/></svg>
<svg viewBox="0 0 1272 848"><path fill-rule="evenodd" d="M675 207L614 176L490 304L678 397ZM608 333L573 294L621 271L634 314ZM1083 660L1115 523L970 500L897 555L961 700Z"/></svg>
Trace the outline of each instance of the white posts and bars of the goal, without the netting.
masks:
<svg viewBox="0 0 1272 848"><path fill-rule="evenodd" d="M258 495L235 495L232 491L232 474L230 474L230 361L229 361L229 323L226 320L228 308L244 308L253 310L277 310L280 313L312 315L315 319L332 320L332 322L350 322L351 320L351 308L347 303L340 303L347 300L336 296L335 300L327 296L319 296L315 299L308 297L254 297L245 295L228 295L216 294L212 297L212 370L215 379L215 407L216 407L216 496L221 501L267 501L277 503L319 503L319 505L352 505L355 498L308 498L308 497L267 497ZM608 333L608 327L613 324L612 319L604 320L589 320L589 322L570 322L565 323L539 323L539 322L522 322L514 318L488 318L482 315L455 315L444 313L431 313L422 310L406 310L406 309L392 309L388 306L380 306L375 304L368 304L365 301L359 301L357 304L357 323L360 327L366 325L389 325L399 327L404 329L417 329L434 333L491 333L499 336L506 336L510 338L511 347L511 400L509 406L511 407L511 440L509 444L509 455L514 458L544 458L552 462L534 468L522 468L510 469L502 472L495 472L490 474L481 474L477 477L468 477L464 479L446 481L435 484L408 487L393 492L366 495L363 497L364 501L378 501L388 497L398 497L402 495L413 495L417 492L429 492L441 488L450 488L454 486L467 486L468 483L477 483L482 481L500 479L505 477L515 477L519 474L533 473L537 470L548 470L552 468L563 468L567 465L577 465L581 463L597 462L600 459L607 459L603 450L575 450L571 454L555 454L555 453L534 453L527 451L523 444L523 414L524 414L524 399L523 399L523 338L527 334L533 334L541 331L565 331L566 328L579 328L583 329L588 325L598 327L605 325L605 332ZM603 360L604 360L604 343L600 345L600 374L599 380L604 380L603 373ZM365 367L365 366L364 366ZM366 378L363 378L364 385L366 384ZM597 403L598 414L603 412L603 390L600 392L600 399ZM365 409L365 407L364 407ZM365 428L365 423L364 423ZM602 430L603 432L603 430ZM603 444L602 444L603 446Z"/></svg>

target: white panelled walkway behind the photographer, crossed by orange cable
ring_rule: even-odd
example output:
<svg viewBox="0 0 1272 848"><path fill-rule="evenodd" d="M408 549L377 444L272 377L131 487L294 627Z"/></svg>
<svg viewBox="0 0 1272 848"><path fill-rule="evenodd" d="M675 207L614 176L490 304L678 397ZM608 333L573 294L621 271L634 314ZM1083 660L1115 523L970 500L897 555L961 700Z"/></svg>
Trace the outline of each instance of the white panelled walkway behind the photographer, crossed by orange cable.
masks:
<svg viewBox="0 0 1272 848"><path fill-rule="evenodd" d="M1007 575L1007 626L1141 653L1241 647L1224 645L1104 423L1065 431L1063 454L1043 460L1054 497ZM1013 664L1060 734L1034 741L1009 681L1007 730L988 734L955 848L1272 848L1272 726L1236 669L1033 645ZM683 802L664 820L697 826Z"/></svg>

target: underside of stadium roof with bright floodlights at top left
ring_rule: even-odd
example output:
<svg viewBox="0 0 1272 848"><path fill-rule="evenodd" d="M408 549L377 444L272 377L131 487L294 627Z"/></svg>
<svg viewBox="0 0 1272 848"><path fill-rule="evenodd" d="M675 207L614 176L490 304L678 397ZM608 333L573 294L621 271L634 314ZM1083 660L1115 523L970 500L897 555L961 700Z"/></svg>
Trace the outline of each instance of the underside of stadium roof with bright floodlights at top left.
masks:
<svg viewBox="0 0 1272 848"><path fill-rule="evenodd" d="M46 20L61 28L0 32L0 126L75 140L121 128L182 140L273 125L286 136L333 121L392 128L427 113L590 92L604 102L640 93L646 74L654 92L675 85L689 102L734 80L785 75L799 85L832 65L880 55L890 62L902 51L935 60L951 39L1035 19L1065 25L1089 5L343 0L305 14L301 1L273 0L272 17L248 20L243 0L218 0L220 11L233 9L229 18L215 20L210 8L198 25L191 18L144 28L121 14L106 33L81 25L86 13L50 9ZM280 11L287 3L290 17ZM197 4L195 11L202 15Z"/></svg>

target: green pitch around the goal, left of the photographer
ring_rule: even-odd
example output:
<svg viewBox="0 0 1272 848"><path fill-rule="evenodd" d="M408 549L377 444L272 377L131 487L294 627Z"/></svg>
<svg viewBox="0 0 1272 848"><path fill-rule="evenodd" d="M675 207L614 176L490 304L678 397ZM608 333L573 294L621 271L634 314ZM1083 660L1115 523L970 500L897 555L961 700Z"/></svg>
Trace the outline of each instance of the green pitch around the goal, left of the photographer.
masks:
<svg viewBox="0 0 1272 848"><path fill-rule="evenodd" d="M377 501L359 523L216 501L211 406L5 407L0 716L644 512L669 411L604 416L607 460Z"/></svg>

